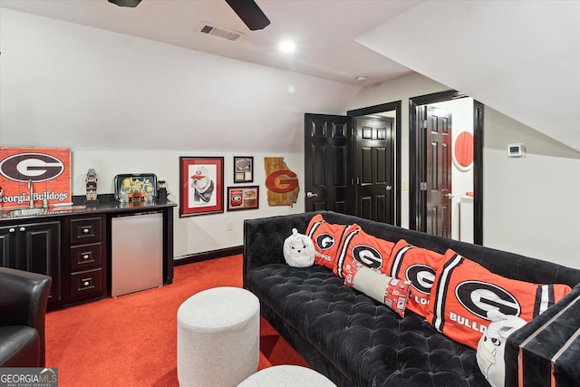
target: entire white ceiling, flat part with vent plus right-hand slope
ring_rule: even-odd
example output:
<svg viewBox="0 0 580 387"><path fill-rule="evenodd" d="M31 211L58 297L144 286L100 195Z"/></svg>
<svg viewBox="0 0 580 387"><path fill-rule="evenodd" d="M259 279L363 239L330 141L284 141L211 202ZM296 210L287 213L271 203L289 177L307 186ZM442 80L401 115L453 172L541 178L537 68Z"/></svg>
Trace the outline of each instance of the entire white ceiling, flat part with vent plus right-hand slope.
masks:
<svg viewBox="0 0 580 387"><path fill-rule="evenodd" d="M249 31L224 0L143 0L136 8L0 0L17 11L348 84L421 73L580 150L580 2L256 3L271 21L264 30ZM201 34L204 23L243 36ZM295 41L294 55L276 50L283 39Z"/></svg>

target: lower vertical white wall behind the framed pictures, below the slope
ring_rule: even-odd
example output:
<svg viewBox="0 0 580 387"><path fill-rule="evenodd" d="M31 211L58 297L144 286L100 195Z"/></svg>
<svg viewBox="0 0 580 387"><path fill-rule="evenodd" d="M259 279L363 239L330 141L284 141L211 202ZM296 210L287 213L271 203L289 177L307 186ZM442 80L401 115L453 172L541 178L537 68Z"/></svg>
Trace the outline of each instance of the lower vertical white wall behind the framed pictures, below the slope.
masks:
<svg viewBox="0 0 580 387"><path fill-rule="evenodd" d="M121 173L155 173L158 179L166 180L169 199L179 203L179 157L180 156L223 156L224 189L234 184L234 156L254 156L254 182L244 185L259 186L258 209L227 212L226 191L224 192L224 213L198 215L179 218L179 208L174 208L174 254L186 256L194 253L212 251L243 244L244 219L261 218L304 212L304 189L296 204L270 207L266 200L266 171L264 157L284 157L289 169L296 172L298 179L304 181L304 154L207 152L203 150L181 151L114 151L114 150L74 150L73 151L73 195L84 195L87 169L94 168L98 174L98 193L114 191L113 179ZM232 230L226 229L231 221Z"/></svg>

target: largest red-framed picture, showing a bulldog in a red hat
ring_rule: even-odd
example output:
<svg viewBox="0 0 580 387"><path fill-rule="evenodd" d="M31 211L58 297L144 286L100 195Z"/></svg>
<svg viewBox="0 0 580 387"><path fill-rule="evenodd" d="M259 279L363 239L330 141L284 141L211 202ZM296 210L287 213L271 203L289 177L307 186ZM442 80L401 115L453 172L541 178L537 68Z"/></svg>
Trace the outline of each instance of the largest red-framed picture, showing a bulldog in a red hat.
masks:
<svg viewBox="0 0 580 387"><path fill-rule="evenodd" d="M224 212L224 158L179 158L179 218Z"/></svg>

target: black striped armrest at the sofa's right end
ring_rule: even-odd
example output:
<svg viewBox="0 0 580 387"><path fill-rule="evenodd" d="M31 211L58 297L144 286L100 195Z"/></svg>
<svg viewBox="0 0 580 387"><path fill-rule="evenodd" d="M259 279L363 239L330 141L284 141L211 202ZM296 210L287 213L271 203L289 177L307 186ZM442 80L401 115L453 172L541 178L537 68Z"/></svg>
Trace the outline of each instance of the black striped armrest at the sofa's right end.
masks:
<svg viewBox="0 0 580 387"><path fill-rule="evenodd" d="M571 315L574 316L572 324L570 324ZM547 372L549 375L551 372L549 361L565 344L565 341L570 337L570 335L574 334L578 329L576 321L578 315L580 315L580 284L575 285L575 287L572 288L572 291L565 295L565 297L563 297L556 305L552 305L546 310L546 312L538 315L534 320L530 321L513 334L510 334L507 338L506 352L504 356L506 361L505 385L518 385L518 375L523 372L523 370L519 370L519 366L521 365L519 364L520 347L533 342L539 334L545 335L546 333L550 334L553 332L555 334L555 339L548 339L547 343L544 343L544 348L542 349L542 351L546 353L546 367L545 369L536 367L537 369L535 370L535 372L538 373ZM577 348L569 348L568 354L569 351L575 351L575 358L580 358L580 351L578 351Z"/></svg>

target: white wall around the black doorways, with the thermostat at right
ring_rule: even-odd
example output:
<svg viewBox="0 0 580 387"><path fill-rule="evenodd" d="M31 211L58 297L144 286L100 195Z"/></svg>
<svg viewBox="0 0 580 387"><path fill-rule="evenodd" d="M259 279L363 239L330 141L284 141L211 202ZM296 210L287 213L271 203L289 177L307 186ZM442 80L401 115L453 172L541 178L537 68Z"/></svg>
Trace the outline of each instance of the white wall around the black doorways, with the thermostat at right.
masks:
<svg viewBox="0 0 580 387"><path fill-rule="evenodd" d="M358 109L402 101L401 179L409 179L409 98L449 90L414 73L364 88ZM527 156L507 159L507 144L523 142ZM485 108L483 243L525 256L580 268L580 152ZM409 195L402 191L401 220L409 226Z"/></svg>

